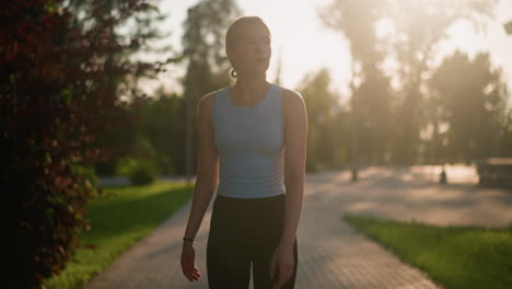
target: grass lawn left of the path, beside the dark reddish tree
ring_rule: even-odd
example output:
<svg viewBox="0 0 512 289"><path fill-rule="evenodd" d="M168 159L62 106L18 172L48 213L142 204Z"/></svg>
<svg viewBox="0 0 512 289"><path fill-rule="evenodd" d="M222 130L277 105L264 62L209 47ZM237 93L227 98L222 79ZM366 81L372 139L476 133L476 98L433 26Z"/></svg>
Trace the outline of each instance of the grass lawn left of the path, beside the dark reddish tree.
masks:
<svg viewBox="0 0 512 289"><path fill-rule="evenodd" d="M148 186L105 188L88 204L91 230L80 236L73 261L47 288L81 288L123 252L148 235L193 194L184 183L158 182Z"/></svg>

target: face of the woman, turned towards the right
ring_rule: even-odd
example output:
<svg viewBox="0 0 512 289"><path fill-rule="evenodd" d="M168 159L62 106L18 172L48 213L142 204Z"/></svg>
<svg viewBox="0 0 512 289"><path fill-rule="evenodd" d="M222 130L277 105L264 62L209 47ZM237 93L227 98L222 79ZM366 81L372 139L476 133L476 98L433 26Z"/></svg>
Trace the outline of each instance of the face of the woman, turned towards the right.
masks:
<svg viewBox="0 0 512 289"><path fill-rule="evenodd" d="M235 32L228 57L237 73L263 73L270 63L270 34L263 24L251 23Z"/></svg>

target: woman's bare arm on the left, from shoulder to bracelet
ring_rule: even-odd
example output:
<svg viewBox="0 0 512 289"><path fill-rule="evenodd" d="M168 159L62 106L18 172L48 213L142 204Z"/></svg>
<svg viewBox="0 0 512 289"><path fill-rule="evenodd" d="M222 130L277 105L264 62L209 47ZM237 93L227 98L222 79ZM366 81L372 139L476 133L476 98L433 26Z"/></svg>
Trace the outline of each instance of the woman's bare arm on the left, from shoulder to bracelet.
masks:
<svg viewBox="0 0 512 289"><path fill-rule="evenodd" d="M213 138L211 113L214 94L205 95L197 109L198 167L193 204L185 236L195 238L210 204L219 178L219 159Z"/></svg>

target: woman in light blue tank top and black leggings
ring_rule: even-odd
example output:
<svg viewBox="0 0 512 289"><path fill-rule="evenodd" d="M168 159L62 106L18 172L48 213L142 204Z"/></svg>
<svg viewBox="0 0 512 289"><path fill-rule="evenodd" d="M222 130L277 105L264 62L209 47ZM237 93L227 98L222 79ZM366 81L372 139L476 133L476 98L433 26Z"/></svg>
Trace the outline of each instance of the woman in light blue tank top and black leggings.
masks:
<svg viewBox="0 0 512 289"><path fill-rule="evenodd" d="M182 269L190 281L200 277L194 238L218 185L207 244L209 288L248 288L251 266L255 289L293 288L305 175L304 101L267 82L270 31L260 18L233 22L225 47L236 83L198 105L198 174Z"/></svg>

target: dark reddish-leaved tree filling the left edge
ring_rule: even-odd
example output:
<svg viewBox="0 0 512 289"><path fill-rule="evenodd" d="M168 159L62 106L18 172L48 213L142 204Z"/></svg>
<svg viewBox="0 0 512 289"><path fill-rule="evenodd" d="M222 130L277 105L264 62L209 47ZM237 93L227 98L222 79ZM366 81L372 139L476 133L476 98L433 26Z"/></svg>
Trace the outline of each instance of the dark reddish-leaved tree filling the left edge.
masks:
<svg viewBox="0 0 512 289"><path fill-rule="evenodd" d="M4 1L0 4L0 186L10 211L7 288L40 288L59 274L89 227L94 194L84 169L105 155L97 136L131 122L120 80L160 63L120 57L141 39L118 37L143 1ZM130 48L131 47L131 48ZM132 105L138 105L133 92Z"/></svg>

